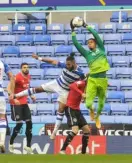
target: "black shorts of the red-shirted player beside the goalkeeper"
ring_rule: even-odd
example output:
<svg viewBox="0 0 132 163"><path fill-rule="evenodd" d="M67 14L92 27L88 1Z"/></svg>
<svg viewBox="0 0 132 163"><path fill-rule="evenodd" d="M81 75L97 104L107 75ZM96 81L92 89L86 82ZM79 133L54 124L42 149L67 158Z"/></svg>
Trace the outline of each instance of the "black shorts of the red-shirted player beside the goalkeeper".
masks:
<svg viewBox="0 0 132 163"><path fill-rule="evenodd" d="M80 110L74 110L67 107L65 109L65 115L67 117L67 124L69 127L79 126L79 128L82 128L83 126L87 125L87 122Z"/></svg>

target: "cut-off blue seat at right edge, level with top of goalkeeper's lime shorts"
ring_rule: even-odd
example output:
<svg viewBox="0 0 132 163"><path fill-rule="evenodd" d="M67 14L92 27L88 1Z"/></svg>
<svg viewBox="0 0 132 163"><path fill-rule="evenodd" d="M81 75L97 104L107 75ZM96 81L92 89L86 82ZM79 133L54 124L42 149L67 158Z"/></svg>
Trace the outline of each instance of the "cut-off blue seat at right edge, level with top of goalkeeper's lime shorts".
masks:
<svg viewBox="0 0 132 163"><path fill-rule="evenodd" d="M121 91L132 90L132 81L131 80L121 80Z"/></svg>

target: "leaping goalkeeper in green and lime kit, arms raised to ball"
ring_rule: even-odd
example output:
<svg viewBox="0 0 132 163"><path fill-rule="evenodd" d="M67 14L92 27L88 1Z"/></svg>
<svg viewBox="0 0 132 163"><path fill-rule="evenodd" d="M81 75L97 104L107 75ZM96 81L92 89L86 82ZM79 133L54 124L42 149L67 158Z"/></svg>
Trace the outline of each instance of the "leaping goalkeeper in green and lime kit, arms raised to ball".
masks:
<svg viewBox="0 0 132 163"><path fill-rule="evenodd" d="M109 70L109 63L105 53L105 47L98 33L88 26L86 23L83 23L83 27L93 34L94 38L88 40L89 50L84 49L81 44L78 43L76 39L76 33L74 32L74 26L72 25L71 20L71 29L72 29L72 41L80 54L86 59L88 66L90 68L88 85L86 88L86 107L90 109L91 120L95 119L96 127L100 128L101 123L99 116L104 107L106 92L108 86L108 80L106 77L106 72ZM93 102L95 97L98 97L98 109L97 115L94 117Z"/></svg>

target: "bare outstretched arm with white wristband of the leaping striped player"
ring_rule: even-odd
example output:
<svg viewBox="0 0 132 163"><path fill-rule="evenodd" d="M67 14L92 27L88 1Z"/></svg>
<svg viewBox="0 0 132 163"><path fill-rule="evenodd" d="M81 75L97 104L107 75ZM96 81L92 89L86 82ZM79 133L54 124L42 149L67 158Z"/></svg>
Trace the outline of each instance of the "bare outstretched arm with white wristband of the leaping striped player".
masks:
<svg viewBox="0 0 132 163"><path fill-rule="evenodd" d="M39 60L41 62L46 62L46 63L52 64L52 65L58 65L58 63L59 63L59 61L57 61L57 60L53 60L53 59L50 59L50 58L42 58L42 57L39 57L36 54L32 54L32 58L37 59L37 60Z"/></svg>

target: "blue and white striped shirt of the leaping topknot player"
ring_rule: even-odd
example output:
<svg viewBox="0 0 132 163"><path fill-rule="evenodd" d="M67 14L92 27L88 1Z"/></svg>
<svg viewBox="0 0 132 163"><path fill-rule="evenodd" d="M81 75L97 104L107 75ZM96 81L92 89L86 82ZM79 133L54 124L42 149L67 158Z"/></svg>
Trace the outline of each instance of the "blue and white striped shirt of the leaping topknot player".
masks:
<svg viewBox="0 0 132 163"><path fill-rule="evenodd" d="M65 90L69 90L69 85L79 79L84 78L84 73L80 67L76 70L69 71L64 62L59 62L58 67L63 68L61 76L56 79L58 84Z"/></svg>

